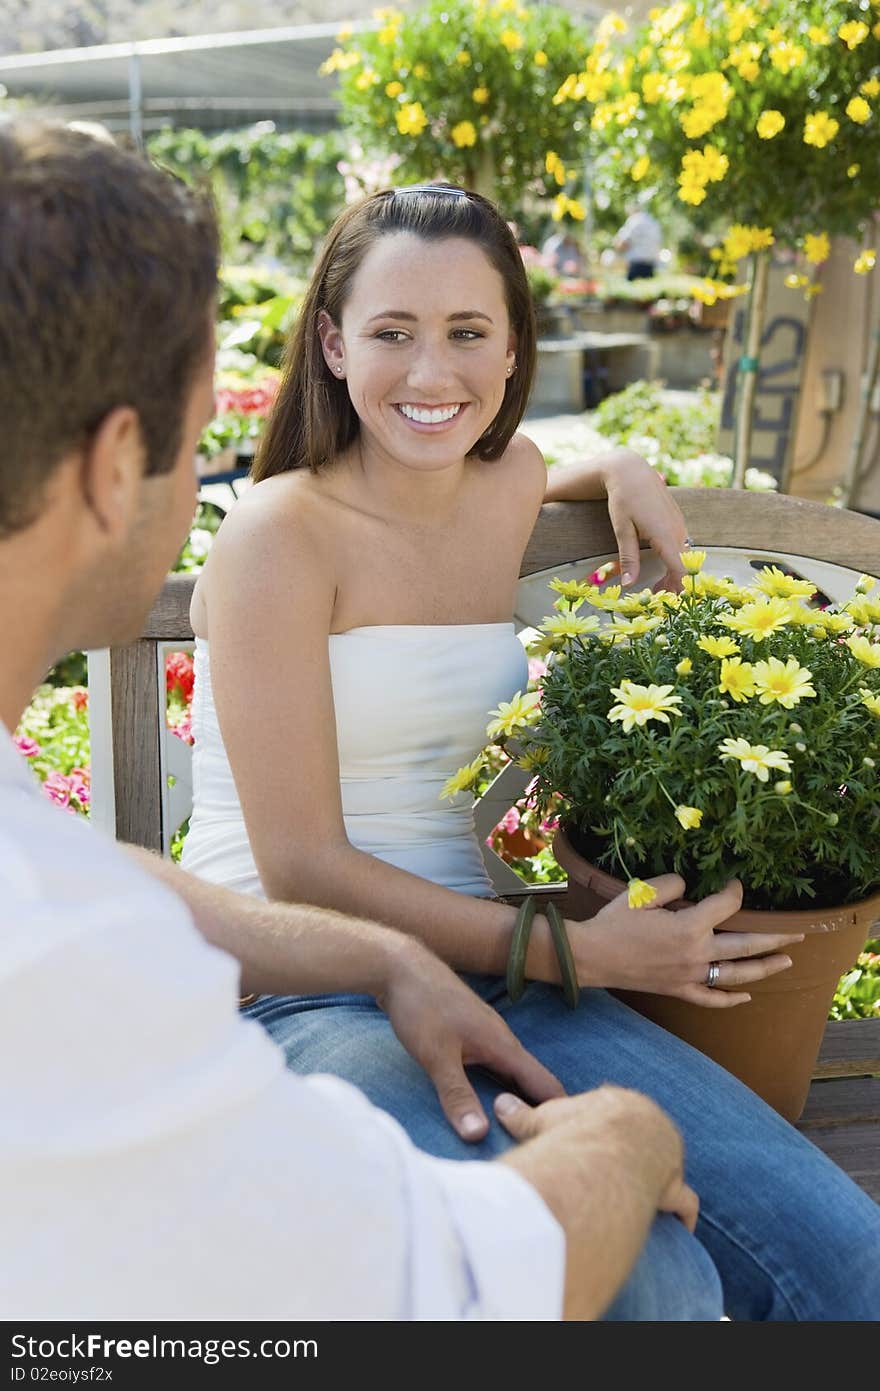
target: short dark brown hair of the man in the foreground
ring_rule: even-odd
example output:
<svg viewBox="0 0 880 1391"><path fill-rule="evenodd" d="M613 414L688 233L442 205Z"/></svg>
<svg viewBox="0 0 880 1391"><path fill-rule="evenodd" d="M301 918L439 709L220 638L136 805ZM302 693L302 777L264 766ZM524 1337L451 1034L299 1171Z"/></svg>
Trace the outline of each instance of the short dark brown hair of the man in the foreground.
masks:
<svg viewBox="0 0 880 1391"><path fill-rule="evenodd" d="M145 473L172 467L217 264L204 195L63 124L0 124L0 538L115 406L138 412Z"/></svg>

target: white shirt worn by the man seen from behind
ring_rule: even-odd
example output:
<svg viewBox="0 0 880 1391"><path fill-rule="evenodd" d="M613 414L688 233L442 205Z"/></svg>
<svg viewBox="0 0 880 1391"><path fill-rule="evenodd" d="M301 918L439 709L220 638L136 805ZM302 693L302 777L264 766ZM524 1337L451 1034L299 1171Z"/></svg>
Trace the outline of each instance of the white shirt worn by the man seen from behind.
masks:
<svg viewBox="0 0 880 1391"><path fill-rule="evenodd" d="M0 1317L557 1319L564 1238L288 1072L238 964L0 725Z"/></svg>

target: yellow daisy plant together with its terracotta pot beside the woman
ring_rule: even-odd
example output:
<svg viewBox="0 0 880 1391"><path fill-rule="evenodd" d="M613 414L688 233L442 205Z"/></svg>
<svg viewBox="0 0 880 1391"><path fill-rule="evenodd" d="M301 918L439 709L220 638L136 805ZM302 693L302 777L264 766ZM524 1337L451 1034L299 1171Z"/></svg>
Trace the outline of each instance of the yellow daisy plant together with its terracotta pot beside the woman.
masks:
<svg viewBox="0 0 880 1391"><path fill-rule="evenodd" d="M728 879L726 924L804 932L794 965L734 1010L626 996L791 1120L834 988L880 917L880 590L833 606L776 566L748 587L683 555L681 594L555 580L549 665L516 726L569 875L569 915L676 871L688 899ZM502 712L503 714L503 712ZM489 726L498 733L498 718Z"/></svg>

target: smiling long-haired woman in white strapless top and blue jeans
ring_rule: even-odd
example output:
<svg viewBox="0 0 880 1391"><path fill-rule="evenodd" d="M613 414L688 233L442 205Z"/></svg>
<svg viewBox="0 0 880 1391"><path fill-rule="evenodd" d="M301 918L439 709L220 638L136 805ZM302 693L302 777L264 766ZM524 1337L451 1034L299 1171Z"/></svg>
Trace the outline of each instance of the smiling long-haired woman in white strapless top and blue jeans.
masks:
<svg viewBox="0 0 880 1391"><path fill-rule="evenodd" d="M734 1320L873 1317L874 1205L734 1078L603 989L730 1008L785 970L790 936L715 935L738 907L737 883L670 914L662 904L684 886L669 875L653 881L651 910L621 899L569 922L585 992L573 1014L539 918L531 985L517 1004L506 996L516 911L492 897L470 798L449 805L439 790L484 743L487 712L524 689L510 615L535 516L546 499L608 495L624 583L637 530L659 538L670 570L684 542L660 481L626 451L548 483L538 449L514 434L534 362L521 259L491 203L417 186L366 199L335 224L259 485L224 523L193 597L185 864L243 892L413 932L467 972L566 1088L616 1081L655 1096L684 1132L702 1200L698 1241L681 1227L670 1235L669 1220L658 1235L676 1246L666 1269L677 1262L709 1288L708 1252ZM752 960L758 950L772 954ZM712 963L720 989L706 983ZM474 1156L446 1134L370 1000L263 997L249 1013L292 1067L356 1082L432 1153ZM491 1081L481 1086L488 1097ZM480 1153L506 1143L492 1129ZM696 1251L683 1253L687 1242ZM829 1262L833 1245L845 1269Z"/></svg>

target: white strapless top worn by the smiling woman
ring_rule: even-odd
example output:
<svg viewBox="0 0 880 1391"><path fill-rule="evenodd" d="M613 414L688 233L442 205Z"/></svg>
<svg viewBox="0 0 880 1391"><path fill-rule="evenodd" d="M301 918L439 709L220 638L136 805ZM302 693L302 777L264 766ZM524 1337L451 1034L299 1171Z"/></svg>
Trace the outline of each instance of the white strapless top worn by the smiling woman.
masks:
<svg viewBox="0 0 880 1391"><path fill-rule="evenodd" d="M441 801L439 791L485 744L489 709L525 690L528 662L513 623L356 627L331 634L329 666L350 843L448 889L489 896L473 797ZM195 673L193 814L182 864L261 896L202 638Z"/></svg>

